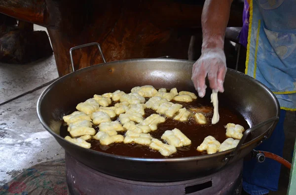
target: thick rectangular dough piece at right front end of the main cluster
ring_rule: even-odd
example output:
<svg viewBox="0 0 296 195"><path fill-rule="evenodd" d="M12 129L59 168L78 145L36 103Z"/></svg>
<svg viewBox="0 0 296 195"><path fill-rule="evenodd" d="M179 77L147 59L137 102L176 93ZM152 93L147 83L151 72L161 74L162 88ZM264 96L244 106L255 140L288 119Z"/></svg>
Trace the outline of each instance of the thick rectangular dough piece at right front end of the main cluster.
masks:
<svg viewBox="0 0 296 195"><path fill-rule="evenodd" d="M175 128L172 131L165 131L161 136L169 145L175 147L182 147L191 144L191 140L188 139L179 129Z"/></svg>

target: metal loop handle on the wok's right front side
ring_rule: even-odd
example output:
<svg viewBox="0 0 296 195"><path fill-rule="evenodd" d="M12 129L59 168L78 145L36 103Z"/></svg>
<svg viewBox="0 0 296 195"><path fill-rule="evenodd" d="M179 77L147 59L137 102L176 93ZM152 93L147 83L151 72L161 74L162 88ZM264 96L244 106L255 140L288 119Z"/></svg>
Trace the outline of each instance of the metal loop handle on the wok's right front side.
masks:
<svg viewBox="0 0 296 195"><path fill-rule="evenodd" d="M263 127L271 122L276 122L279 120L278 116L274 116L272 118L269 118L268 120L265 120L261 123L259 123L258 125L255 125L254 127L249 128L247 131L245 131L242 139L238 142L237 146L235 147L235 149L227 156L225 156L225 158L223 159L224 161L229 161L231 157L235 156L238 154L238 151L240 150L241 146L243 145L244 141L247 139L247 137L249 136L249 134L251 134L254 130L259 129L260 127ZM268 128L268 130L271 127Z"/></svg>

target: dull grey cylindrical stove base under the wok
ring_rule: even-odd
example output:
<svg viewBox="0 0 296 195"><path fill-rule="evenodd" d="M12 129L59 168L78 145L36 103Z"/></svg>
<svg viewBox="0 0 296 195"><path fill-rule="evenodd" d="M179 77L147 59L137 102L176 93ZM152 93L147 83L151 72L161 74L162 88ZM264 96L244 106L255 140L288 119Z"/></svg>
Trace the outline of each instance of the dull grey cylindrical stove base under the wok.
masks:
<svg viewBox="0 0 296 195"><path fill-rule="evenodd" d="M206 177L153 183L106 175L66 153L67 183L71 195L240 195L242 166L243 161L240 160Z"/></svg>

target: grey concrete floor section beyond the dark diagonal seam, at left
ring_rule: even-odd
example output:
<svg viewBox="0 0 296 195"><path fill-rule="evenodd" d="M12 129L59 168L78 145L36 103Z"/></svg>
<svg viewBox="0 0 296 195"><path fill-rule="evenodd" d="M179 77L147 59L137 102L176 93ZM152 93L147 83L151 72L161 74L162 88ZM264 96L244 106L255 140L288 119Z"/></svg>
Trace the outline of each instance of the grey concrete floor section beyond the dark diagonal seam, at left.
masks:
<svg viewBox="0 0 296 195"><path fill-rule="evenodd" d="M35 30L46 28L34 25ZM42 71L40 71L42 70ZM0 105L58 78L54 55L28 64L0 63Z"/></svg>

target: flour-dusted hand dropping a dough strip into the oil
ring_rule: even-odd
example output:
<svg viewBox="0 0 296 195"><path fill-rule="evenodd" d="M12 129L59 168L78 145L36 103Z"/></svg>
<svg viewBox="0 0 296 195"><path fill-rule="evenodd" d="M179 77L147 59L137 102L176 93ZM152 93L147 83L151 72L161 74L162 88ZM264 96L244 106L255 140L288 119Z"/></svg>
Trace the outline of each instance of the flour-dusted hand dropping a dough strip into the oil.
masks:
<svg viewBox="0 0 296 195"><path fill-rule="evenodd" d="M193 64L191 80L199 97L206 93L206 76L212 90L223 92L223 83L226 74L226 58L220 48L210 48L202 51L202 55Z"/></svg>

